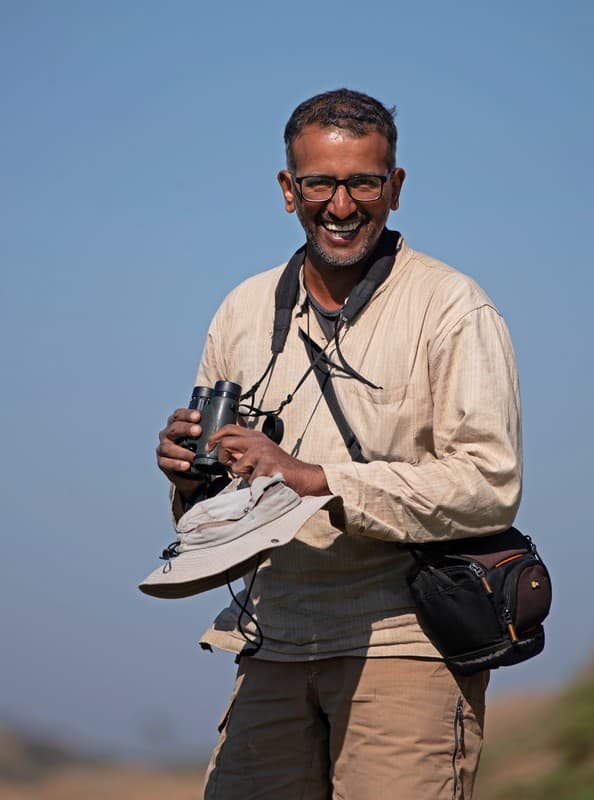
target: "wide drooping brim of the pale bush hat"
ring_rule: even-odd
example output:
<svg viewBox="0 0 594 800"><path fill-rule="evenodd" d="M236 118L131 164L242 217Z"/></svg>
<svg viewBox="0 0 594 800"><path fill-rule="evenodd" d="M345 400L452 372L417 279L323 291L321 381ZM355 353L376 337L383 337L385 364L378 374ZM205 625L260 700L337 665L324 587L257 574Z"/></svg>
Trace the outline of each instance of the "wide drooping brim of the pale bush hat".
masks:
<svg viewBox="0 0 594 800"><path fill-rule="evenodd" d="M333 501L339 498L302 497L298 506L239 539L181 552L151 572L138 588L152 597L175 599L224 586L254 569L260 553L288 544L310 517Z"/></svg>

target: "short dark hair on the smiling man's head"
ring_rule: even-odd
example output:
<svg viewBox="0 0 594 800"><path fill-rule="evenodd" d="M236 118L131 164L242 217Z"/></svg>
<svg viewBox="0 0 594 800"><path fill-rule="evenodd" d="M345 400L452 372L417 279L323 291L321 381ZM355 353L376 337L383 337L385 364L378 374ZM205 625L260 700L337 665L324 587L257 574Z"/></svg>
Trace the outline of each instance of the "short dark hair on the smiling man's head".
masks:
<svg viewBox="0 0 594 800"><path fill-rule="evenodd" d="M396 107L386 108L379 100L353 89L334 89L316 94L300 103L285 127L287 168L295 170L293 142L307 125L343 128L356 137L378 131L388 140L388 169L396 166L398 131L394 124Z"/></svg>

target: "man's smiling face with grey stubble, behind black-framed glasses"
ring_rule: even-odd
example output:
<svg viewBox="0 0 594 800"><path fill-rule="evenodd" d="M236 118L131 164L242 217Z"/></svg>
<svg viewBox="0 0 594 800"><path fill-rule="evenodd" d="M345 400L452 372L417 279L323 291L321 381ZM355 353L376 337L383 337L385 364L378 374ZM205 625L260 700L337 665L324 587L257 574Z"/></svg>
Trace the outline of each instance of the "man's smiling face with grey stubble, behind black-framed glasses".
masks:
<svg viewBox="0 0 594 800"><path fill-rule="evenodd" d="M378 131L355 137L341 128L309 125L293 141L295 175L387 175L382 195L371 202L353 200L346 186L338 186L331 200L311 202L301 197L291 173L279 172L285 208L295 211L308 243L308 257L316 266L341 268L359 265L375 250L390 210L398 208L404 170L389 175L388 142Z"/></svg>

